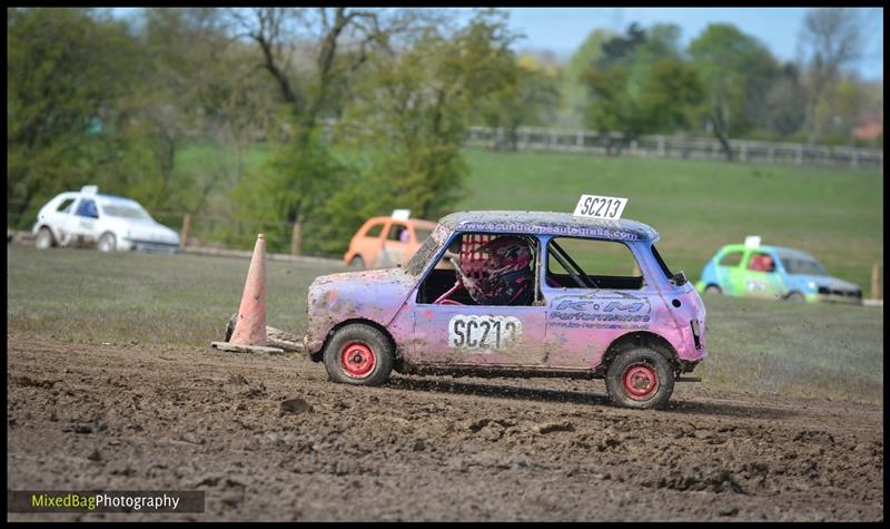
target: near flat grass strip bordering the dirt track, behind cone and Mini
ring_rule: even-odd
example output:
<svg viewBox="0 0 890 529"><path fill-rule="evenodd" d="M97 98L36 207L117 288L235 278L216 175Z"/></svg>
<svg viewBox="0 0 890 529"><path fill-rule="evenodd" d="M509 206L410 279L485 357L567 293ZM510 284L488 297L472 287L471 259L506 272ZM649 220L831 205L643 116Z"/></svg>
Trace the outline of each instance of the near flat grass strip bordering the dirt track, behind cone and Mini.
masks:
<svg viewBox="0 0 890 529"><path fill-rule="evenodd" d="M90 343L208 346L238 310L248 261L9 247L7 332ZM269 262L267 322L301 333L306 290L338 265ZM704 384L883 402L883 308L705 298Z"/></svg>

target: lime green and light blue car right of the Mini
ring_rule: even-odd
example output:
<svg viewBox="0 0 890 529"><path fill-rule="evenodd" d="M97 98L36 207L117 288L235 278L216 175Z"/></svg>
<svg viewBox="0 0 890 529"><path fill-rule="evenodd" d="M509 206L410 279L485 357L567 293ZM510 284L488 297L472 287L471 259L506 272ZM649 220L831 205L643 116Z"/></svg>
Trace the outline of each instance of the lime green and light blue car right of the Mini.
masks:
<svg viewBox="0 0 890 529"><path fill-rule="evenodd" d="M695 288L736 297L862 304L862 288L830 276L811 255L761 246L758 239L720 248L702 270Z"/></svg>

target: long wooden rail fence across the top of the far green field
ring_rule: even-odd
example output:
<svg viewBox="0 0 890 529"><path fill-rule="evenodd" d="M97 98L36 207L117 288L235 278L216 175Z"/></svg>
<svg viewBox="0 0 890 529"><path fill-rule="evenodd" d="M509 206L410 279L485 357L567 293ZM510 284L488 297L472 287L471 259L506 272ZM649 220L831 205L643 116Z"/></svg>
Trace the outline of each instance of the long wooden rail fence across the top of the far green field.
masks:
<svg viewBox="0 0 890 529"><path fill-rule="evenodd" d="M469 127L465 145L495 150L726 159L720 141L711 138L641 136L627 139L620 133L545 127L518 127L515 134L510 134L502 128L474 126ZM733 139L730 150L732 159L742 163L883 168L883 150L878 149Z"/></svg>

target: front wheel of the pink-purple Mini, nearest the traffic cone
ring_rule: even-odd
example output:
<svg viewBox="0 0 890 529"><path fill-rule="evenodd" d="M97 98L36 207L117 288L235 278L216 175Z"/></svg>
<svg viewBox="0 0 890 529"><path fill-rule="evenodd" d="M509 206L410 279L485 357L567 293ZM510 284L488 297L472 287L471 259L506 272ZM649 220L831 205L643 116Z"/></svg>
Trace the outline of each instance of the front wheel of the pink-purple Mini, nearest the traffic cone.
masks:
<svg viewBox="0 0 890 529"><path fill-rule="evenodd" d="M393 345L384 333L362 323L344 326L325 346L325 369L335 382L380 385L389 379Z"/></svg>

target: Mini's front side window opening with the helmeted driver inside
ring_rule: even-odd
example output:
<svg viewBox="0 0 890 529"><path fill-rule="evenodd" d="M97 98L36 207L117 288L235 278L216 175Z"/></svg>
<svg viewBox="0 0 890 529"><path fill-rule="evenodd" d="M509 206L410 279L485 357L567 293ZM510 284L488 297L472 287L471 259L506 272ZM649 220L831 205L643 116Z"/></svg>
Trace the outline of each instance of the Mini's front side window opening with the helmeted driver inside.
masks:
<svg viewBox="0 0 890 529"><path fill-rule="evenodd" d="M534 236L458 234L421 285L417 303L533 305L537 253Z"/></svg>

